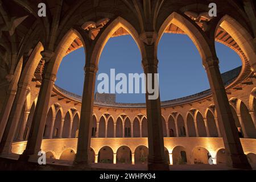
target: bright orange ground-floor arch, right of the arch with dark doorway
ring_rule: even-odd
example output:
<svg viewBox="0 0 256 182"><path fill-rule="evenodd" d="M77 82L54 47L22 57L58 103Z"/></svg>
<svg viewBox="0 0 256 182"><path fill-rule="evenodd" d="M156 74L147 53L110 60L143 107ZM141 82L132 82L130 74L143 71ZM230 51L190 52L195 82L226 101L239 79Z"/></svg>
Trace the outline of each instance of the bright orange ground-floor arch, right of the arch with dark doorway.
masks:
<svg viewBox="0 0 256 182"><path fill-rule="evenodd" d="M204 147L195 147L192 150L193 164L209 164L210 153Z"/></svg>

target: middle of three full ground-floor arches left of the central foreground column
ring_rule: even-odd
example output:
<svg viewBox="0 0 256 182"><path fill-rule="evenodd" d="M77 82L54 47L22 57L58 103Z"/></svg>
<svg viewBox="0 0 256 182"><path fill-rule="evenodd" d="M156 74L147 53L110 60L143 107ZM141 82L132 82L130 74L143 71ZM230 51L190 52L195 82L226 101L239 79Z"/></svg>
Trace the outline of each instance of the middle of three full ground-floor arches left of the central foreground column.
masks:
<svg viewBox="0 0 256 182"><path fill-rule="evenodd" d="M131 164L131 150L127 146L121 146L117 150L117 163Z"/></svg>

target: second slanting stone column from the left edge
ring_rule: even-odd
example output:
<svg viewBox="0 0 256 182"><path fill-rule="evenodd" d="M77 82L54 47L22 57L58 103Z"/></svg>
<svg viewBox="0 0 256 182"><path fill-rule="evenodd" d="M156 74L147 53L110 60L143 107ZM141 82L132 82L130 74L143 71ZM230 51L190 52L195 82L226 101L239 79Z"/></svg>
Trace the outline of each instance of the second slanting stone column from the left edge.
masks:
<svg viewBox="0 0 256 182"><path fill-rule="evenodd" d="M18 90L14 99L13 107L9 119L6 124L5 132L0 144L0 154L10 154L11 144L13 143L14 135L19 123L19 117L22 112L22 107L26 100L27 92L29 90L28 84L18 84Z"/></svg>

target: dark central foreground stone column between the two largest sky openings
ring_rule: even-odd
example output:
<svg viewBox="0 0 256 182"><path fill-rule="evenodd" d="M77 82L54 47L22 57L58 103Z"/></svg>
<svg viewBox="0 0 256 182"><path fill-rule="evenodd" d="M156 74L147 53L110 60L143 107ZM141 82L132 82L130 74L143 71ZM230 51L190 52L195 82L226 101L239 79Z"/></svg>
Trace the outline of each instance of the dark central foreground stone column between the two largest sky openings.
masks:
<svg viewBox="0 0 256 182"><path fill-rule="evenodd" d="M142 60L144 73L146 74L146 110L147 110L147 128L148 128L148 169L149 170L169 170L169 166L164 154L164 139L162 113L160 106L160 96L152 97L148 93L148 87L158 86L158 60L152 55L154 45L146 46L147 60ZM148 76L151 74L151 82ZM157 77L156 77L157 76ZM155 81L156 80L156 81ZM151 84L151 86L149 86ZM159 90L157 90L159 92ZM157 92L156 91L156 92ZM156 94L156 93L154 93ZM152 98L150 98L152 97Z"/></svg>

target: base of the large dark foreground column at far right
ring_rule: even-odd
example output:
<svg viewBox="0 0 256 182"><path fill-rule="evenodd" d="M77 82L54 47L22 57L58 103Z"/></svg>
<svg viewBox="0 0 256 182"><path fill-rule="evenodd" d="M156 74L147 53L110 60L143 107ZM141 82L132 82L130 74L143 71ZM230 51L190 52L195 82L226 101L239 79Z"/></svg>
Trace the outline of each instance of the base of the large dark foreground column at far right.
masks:
<svg viewBox="0 0 256 182"><path fill-rule="evenodd" d="M252 169L246 155L227 155L227 166L238 169Z"/></svg>

